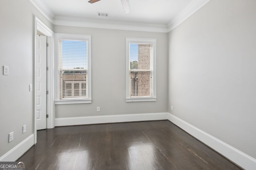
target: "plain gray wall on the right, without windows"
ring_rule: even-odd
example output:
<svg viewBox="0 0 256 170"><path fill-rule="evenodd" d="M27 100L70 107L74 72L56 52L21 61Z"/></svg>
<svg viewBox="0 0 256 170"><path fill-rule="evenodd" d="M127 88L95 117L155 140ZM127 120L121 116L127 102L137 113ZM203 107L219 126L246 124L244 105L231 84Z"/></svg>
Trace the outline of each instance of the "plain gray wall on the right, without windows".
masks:
<svg viewBox="0 0 256 170"><path fill-rule="evenodd" d="M168 111L256 158L256 1L211 0L169 43Z"/></svg>

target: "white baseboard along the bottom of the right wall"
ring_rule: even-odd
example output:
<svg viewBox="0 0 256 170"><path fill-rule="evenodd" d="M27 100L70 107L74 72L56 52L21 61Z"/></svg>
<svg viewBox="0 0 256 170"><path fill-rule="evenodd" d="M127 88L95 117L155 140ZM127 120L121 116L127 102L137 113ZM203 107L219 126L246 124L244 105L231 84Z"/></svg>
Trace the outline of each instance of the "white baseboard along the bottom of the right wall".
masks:
<svg viewBox="0 0 256 170"><path fill-rule="evenodd" d="M255 170L256 159L251 156L241 152L240 150L220 141L219 139L209 135L208 133L190 125L186 121L168 113L168 120L188 132L190 135L194 136L196 139L202 141L212 149L216 150L220 154L226 156L231 161L235 162L242 168L246 170Z"/></svg>

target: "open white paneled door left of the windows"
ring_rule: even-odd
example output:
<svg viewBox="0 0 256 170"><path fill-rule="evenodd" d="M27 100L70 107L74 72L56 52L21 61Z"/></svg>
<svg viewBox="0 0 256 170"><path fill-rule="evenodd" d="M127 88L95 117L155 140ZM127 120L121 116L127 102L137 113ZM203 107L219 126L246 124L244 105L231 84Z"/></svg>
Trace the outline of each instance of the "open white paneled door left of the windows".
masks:
<svg viewBox="0 0 256 170"><path fill-rule="evenodd" d="M36 37L36 129L46 129L46 36Z"/></svg>

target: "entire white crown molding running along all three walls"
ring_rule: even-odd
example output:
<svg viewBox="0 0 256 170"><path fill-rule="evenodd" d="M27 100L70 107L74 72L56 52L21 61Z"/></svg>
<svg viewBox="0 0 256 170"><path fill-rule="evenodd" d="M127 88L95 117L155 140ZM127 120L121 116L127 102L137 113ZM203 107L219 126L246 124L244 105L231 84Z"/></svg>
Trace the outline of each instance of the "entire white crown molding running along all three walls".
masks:
<svg viewBox="0 0 256 170"><path fill-rule="evenodd" d="M91 27L103 29L120 29L129 31L149 31L168 33L189 16L194 14L202 6L210 0L194 0L177 16L170 19L166 24L141 23L141 22L124 22L124 21L109 21L97 20L90 18L77 18L68 16L56 16L52 10L42 0L30 0L30 2L54 25L75 26L75 27Z"/></svg>

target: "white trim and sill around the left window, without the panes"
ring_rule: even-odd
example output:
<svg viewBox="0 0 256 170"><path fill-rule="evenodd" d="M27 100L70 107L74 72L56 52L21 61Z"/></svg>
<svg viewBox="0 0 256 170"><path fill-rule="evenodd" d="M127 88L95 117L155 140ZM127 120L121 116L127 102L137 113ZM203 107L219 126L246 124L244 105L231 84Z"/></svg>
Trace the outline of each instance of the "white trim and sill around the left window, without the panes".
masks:
<svg viewBox="0 0 256 170"><path fill-rule="evenodd" d="M58 54L58 41L59 39L73 39L88 41L88 99L72 99L72 100L59 100L59 54ZM54 104L84 104L92 103L92 78L91 78L91 35L80 34L65 34L55 33L55 102Z"/></svg>

